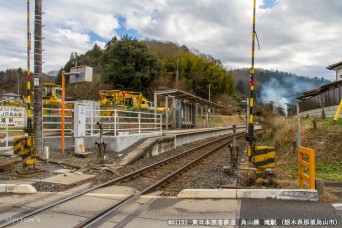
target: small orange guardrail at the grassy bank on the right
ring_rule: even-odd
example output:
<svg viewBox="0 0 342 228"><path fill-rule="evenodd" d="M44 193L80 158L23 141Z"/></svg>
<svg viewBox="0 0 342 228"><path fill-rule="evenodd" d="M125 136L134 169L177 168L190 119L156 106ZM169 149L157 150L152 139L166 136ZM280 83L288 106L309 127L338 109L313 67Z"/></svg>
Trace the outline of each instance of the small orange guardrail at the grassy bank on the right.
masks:
<svg viewBox="0 0 342 228"><path fill-rule="evenodd" d="M305 161L308 157L308 161ZM299 188L304 188L304 181L309 183L310 189L315 189L315 151L300 146L298 148L298 171L299 171ZM308 174L305 173L308 169Z"/></svg>

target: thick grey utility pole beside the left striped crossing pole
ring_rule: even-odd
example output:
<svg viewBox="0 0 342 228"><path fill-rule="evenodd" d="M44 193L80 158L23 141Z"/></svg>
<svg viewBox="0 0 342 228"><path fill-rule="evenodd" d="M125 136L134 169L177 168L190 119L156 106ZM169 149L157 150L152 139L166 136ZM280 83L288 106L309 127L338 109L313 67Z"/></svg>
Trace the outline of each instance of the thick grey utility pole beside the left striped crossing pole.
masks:
<svg viewBox="0 0 342 228"><path fill-rule="evenodd" d="M43 152L42 134L42 0L35 0L34 20L34 151Z"/></svg>

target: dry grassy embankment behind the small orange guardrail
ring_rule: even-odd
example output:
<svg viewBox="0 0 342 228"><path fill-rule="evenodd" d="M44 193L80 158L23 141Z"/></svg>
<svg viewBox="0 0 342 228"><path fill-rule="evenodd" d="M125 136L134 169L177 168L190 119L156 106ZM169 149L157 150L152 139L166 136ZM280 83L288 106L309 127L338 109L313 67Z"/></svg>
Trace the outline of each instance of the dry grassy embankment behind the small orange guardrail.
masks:
<svg viewBox="0 0 342 228"><path fill-rule="evenodd" d="M276 181L279 187L297 187L298 155L294 151L296 142L296 119L267 116L260 122L268 129L257 138L257 145L276 146ZM315 150L316 178L326 182L342 182L342 119L334 123L332 118L315 119L317 129L313 128L314 119L301 119L301 146Z"/></svg>

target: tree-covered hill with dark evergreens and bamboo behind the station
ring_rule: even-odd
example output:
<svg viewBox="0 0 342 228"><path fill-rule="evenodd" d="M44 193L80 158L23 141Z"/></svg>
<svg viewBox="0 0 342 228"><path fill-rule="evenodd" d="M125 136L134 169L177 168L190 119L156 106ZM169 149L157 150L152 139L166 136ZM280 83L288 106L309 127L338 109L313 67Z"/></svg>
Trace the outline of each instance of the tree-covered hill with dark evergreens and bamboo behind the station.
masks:
<svg viewBox="0 0 342 228"><path fill-rule="evenodd" d="M72 56L64 66L66 72L74 62ZM186 46L171 42L113 37L104 49L95 44L93 49L78 56L77 62L94 68L96 85L140 91L148 98L155 90L176 88L177 65L177 88L180 90L207 99L210 85L211 98L216 102L233 96L235 91L233 75L225 70L220 60L193 53ZM57 83L60 83L60 75Z"/></svg>

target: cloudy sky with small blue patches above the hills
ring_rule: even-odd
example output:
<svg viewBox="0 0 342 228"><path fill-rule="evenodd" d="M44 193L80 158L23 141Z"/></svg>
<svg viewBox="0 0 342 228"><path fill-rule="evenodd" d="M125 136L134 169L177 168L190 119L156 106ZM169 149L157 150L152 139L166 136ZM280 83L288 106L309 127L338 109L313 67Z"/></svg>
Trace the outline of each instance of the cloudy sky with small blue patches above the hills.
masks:
<svg viewBox="0 0 342 228"><path fill-rule="evenodd" d="M27 69L26 7L1 1L0 70ZM30 8L33 37L34 0ZM124 34L186 45L228 69L250 68L252 10L253 0L43 0L43 71ZM256 13L256 68L334 80L326 67L342 61L341 0L257 0Z"/></svg>

